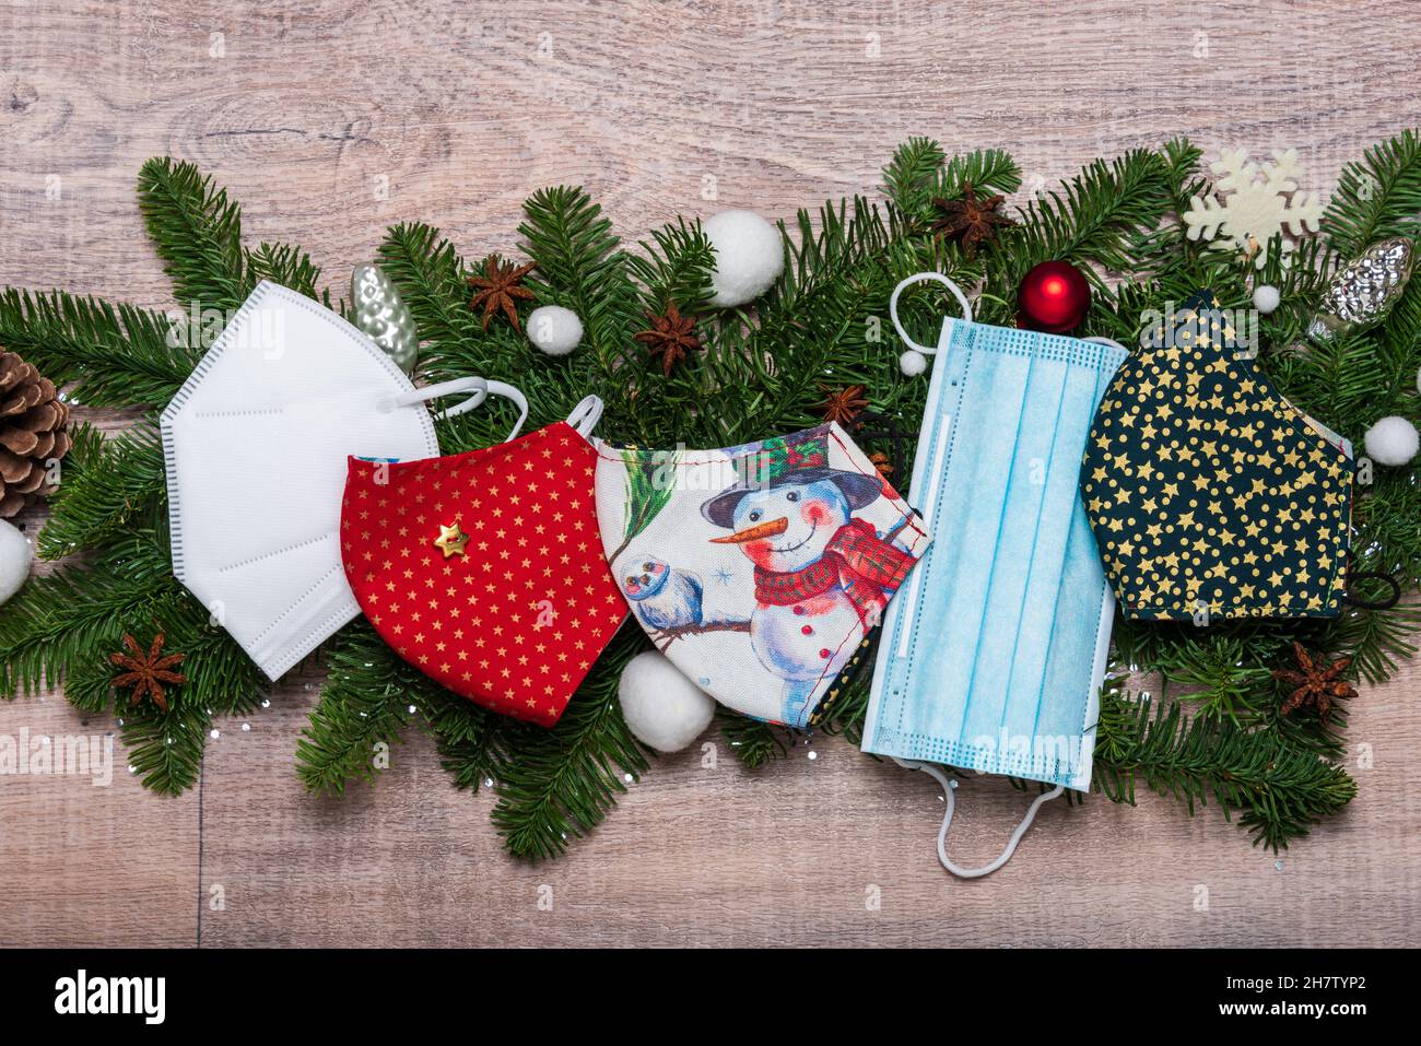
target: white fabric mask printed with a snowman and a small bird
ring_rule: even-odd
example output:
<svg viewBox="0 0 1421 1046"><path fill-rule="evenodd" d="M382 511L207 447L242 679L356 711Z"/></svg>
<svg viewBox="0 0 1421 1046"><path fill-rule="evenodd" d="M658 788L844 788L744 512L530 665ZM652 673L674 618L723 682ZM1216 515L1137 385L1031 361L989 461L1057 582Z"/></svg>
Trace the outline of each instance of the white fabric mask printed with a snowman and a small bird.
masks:
<svg viewBox="0 0 1421 1046"><path fill-rule="evenodd" d="M607 560L657 648L729 708L817 722L928 547L918 513L833 422L719 451L595 446Z"/></svg>

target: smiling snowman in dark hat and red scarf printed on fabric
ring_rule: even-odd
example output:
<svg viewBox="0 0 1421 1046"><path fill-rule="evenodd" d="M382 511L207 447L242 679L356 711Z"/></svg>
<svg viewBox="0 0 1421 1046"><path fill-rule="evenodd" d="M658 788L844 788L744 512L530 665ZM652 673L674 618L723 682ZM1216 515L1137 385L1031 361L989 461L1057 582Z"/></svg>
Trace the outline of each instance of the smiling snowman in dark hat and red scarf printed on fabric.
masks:
<svg viewBox="0 0 1421 1046"><path fill-rule="evenodd" d="M831 468L823 431L767 441L701 514L755 564L750 645L784 681L782 722L803 725L818 685L853 657L914 557L854 512L884 493L874 475Z"/></svg>

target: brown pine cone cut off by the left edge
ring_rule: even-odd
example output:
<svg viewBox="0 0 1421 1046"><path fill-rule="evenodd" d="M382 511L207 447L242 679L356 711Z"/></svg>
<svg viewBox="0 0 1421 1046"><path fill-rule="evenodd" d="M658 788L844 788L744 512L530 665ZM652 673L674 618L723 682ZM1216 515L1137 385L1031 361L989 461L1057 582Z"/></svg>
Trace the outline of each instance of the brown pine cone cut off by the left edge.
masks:
<svg viewBox="0 0 1421 1046"><path fill-rule="evenodd" d="M0 351L0 519L10 519L44 486L50 462L70 451L70 408L48 378Z"/></svg>

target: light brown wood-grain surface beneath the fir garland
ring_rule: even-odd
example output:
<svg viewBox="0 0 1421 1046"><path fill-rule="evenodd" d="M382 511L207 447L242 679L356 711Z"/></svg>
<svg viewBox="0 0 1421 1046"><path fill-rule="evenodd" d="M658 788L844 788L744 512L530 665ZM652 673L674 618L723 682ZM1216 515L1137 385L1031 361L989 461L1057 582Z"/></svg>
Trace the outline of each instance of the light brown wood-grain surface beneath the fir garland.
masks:
<svg viewBox="0 0 1421 1046"><path fill-rule="evenodd" d="M783 217L871 192L908 135L1006 148L1027 186L1175 134L1296 146L1327 190L1421 125L1418 30L1380 0L3 0L0 283L169 307L134 199L165 152L341 294L402 219L477 256L513 249L523 198L556 182L632 239L676 213ZM1279 863L1212 807L1093 797L1047 804L973 883L938 867L934 782L834 739L757 775L723 748L661 759L564 860L516 863L492 799L455 792L418 735L378 787L304 794L317 684L288 678L250 732L222 723L180 799L121 749L111 787L0 779L0 944L1421 944L1421 662L1354 702L1360 794ZM0 706L0 733L109 726L58 695ZM955 856L986 860L1023 796L959 794Z"/></svg>

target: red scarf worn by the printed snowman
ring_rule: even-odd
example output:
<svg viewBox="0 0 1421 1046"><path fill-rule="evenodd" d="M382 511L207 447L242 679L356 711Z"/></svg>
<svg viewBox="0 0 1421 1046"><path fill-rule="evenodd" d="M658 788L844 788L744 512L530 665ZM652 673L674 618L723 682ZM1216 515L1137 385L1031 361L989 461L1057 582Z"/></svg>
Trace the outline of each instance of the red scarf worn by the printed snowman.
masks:
<svg viewBox="0 0 1421 1046"><path fill-rule="evenodd" d="M853 519L828 540L824 554L803 570L780 573L755 568L755 598L787 607L841 584L863 617L872 597L894 590L908 577L914 557L878 537L872 526Z"/></svg>

